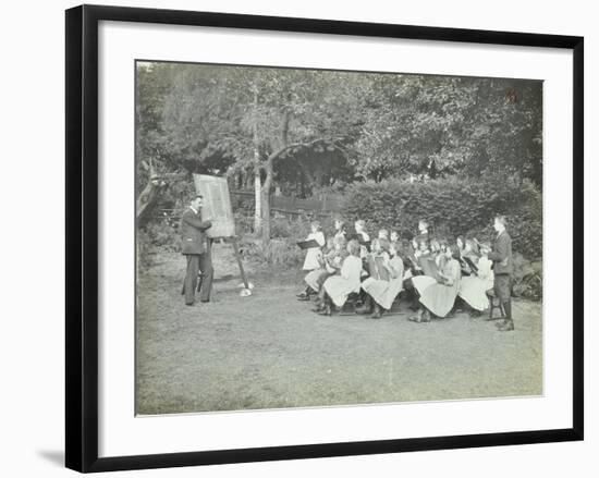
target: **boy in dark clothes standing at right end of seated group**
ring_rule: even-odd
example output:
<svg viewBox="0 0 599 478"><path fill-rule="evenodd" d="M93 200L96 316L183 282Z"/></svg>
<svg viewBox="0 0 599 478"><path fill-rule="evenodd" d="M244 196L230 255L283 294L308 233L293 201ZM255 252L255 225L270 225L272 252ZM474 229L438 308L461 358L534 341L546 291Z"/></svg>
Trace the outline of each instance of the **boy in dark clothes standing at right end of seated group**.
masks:
<svg viewBox="0 0 599 478"><path fill-rule="evenodd" d="M497 231L497 237L493 243L493 250L488 257L493 261L493 291L496 297L501 302L505 319L497 327L501 332L514 330L514 320L512 319L512 273L514 267L512 263L512 238L505 230L505 217L496 216L493 229Z"/></svg>

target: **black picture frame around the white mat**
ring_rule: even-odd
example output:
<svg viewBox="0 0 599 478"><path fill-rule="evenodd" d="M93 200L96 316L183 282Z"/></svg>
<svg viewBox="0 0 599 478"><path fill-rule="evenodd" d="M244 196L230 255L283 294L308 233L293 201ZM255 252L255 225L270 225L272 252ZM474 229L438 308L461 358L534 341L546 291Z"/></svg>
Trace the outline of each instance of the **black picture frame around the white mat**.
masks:
<svg viewBox="0 0 599 478"><path fill-rule="evenodd" d="M65 12L66 314L65 464L108 471L583 440L584 430L584 39L330 20L81 5ZM143 22L560 48L573 51L572 428L243 450L98 457L98 23Z"/></svg>

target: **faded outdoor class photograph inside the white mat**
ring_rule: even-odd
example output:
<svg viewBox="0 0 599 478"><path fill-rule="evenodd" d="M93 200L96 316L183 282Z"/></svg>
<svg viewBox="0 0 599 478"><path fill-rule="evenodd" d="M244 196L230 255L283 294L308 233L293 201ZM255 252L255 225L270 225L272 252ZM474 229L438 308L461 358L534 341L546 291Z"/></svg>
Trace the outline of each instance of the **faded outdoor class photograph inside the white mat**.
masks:
<svg viewBox="0 0 599 478"><path fill-rule="evenodd" d="M135 413L542 395L542 119L540 79L136 60Z"/></svg>

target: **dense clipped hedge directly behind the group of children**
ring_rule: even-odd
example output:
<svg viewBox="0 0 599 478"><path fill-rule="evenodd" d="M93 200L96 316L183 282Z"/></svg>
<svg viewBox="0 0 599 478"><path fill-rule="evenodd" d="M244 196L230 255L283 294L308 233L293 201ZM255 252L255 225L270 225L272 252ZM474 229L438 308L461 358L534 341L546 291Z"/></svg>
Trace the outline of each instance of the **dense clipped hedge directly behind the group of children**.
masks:
<svg viewBox="0 0 599 478"><path fill-rule="evenodd" d="M346 191L347 219L364 219L370 231L379 228L415 232L427 219L433 234L476 236L492 241L496 213L508 217L514 250L528 258L542 256L541 193L525 182L473 181L448 177L411 183L388 180L356 183Z"/></svg>

